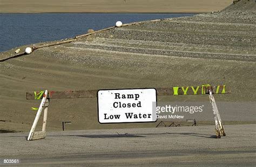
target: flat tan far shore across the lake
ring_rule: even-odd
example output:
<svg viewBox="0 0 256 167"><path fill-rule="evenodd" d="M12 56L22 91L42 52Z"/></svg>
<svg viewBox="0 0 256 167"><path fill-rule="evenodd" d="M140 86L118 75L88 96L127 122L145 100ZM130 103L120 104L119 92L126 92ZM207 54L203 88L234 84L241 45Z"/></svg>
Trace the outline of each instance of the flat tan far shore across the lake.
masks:
<svg viewBox="0 0 256 167"><path fill-rule="evenodd" d="M231 3L232 0L1 0L0 13L200 13L222 10Z"/></svg>

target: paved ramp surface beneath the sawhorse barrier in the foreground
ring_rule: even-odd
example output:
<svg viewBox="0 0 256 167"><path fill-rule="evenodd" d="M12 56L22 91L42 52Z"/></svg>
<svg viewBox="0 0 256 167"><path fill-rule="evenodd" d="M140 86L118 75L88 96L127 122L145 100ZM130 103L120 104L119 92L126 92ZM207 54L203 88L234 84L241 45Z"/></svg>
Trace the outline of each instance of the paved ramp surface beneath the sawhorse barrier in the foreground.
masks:
<svg viewBox="0 0 256 167"><path fill-rule="evenodd" d="M24 166L254 166L255 128L225 126L220 139L214 126L58 131L36 141L7 133L0 134L0 158Z"/></svg>

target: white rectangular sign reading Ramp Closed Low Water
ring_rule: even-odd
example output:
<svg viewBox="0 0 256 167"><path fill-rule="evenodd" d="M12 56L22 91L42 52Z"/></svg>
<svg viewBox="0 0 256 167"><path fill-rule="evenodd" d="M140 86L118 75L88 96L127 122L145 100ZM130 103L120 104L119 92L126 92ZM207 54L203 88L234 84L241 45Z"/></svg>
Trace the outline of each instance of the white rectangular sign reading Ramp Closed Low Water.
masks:
<svg viewBox="0 0 256 167"><path fill-rule="evenodd" d="M154 88L99 90L99 123L157 121Z"/></svg>

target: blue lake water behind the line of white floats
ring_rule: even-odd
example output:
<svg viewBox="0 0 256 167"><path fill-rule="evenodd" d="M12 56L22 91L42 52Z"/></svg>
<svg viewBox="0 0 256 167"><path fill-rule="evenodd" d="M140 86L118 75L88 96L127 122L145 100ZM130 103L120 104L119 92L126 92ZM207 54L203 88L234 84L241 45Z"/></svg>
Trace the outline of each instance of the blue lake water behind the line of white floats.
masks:
<svg viewBox="0 0 256 167"><path fill-rule="evenodd" d="M192 16L180 13L41 13L0 14L0 52L13 47L59 40L116 24Z"/></svg>

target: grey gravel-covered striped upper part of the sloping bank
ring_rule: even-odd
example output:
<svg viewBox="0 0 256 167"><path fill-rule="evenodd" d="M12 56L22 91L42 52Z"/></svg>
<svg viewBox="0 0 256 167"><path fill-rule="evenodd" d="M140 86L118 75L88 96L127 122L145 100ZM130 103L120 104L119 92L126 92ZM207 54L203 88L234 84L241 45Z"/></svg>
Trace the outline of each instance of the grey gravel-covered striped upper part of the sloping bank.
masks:
<svg viewBox="0 0 256 167"><path fill-rule="evenodd" d="M86 38L84 43L81 40L74 45L126 53L255 62L255 11L254 1L241 1L219 12L112 29L89 37L92 41ZM133 45L129 46L127 40ZM219 52L213 52L213 48Z"/></svg>

